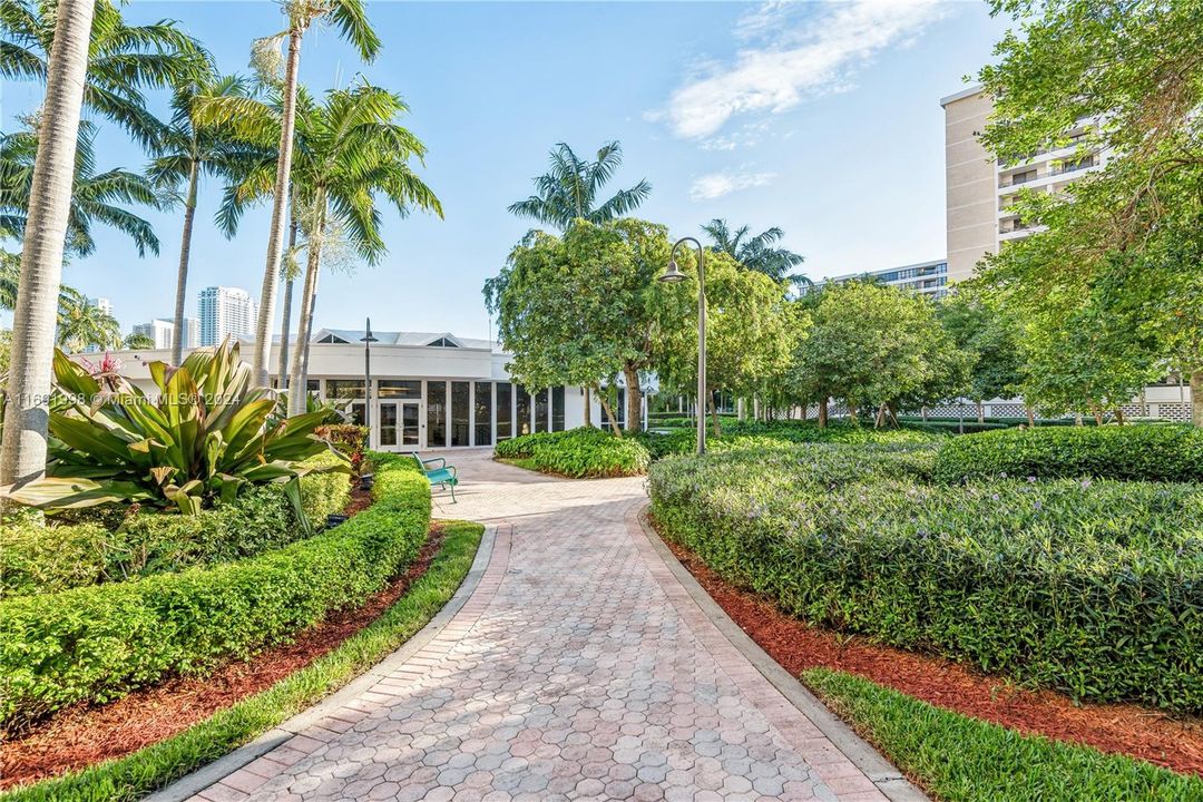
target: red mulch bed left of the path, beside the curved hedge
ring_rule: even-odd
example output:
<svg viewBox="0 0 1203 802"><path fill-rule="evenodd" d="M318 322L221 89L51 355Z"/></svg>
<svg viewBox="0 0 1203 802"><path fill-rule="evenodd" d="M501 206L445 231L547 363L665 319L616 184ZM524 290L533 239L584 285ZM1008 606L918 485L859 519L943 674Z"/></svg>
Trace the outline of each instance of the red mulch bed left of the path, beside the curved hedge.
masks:
<svg viewBox="0 0 1203 802"><path fill-rule="evenodd" d="M371 494L356 486L346 512L354 515L371 503ZM432 527L405 574L361 607L331 614L292 643L269 648L249 661L226 664L205 677L176 677L108 705L65 708L20 737L6 739L0 753L0 789L125 756L266 690L379 618L426 572L443 537L443 530Z"/></svg>

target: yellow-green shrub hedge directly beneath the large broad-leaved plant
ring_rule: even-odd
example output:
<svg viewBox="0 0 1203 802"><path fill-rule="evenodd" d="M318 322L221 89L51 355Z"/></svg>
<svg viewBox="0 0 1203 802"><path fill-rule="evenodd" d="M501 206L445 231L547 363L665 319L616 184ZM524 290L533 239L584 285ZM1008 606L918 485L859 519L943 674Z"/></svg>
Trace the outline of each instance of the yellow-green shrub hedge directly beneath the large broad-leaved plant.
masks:
<svg viewBox="0 0 1203 802"><path fill-rule="evenodd" d="M327 452L306 462L325 465L340 458ZM301 477L301 504L314 527L345 507L349 497L346 474ZM43 523L41 516L18 516L0 525L0 595L58 593L227 563L303 536L279 485L247 488L233 501L194 516L138 512L112 531L95 522L61 524L49 518Z"/></svg>

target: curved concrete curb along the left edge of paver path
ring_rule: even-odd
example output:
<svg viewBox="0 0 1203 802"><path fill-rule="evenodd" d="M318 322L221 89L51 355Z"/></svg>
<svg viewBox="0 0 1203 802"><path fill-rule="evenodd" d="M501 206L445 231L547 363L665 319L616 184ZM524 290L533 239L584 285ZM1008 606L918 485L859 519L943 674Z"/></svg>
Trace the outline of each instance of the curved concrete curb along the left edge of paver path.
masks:
<svg viewBox="0 0 1203 802"><path fill-rule="evenodd" d="M238 771L250 761L260 758L272 749L275 749L294 736L301 735L308 726L330 715L334 711L345 706L346 702L368 690L381 678L404 664L409 658L429 643L443 628L455 618L460 608L475 593L480 578L485 575L485 569L493 556L493 543L497 539L497 527L485 527L485 533L480 537L480 546L476 548L476 557L468 570L460 588L451 596L450 601L443 605L443 610L434 613L434 617L426 623L426 626L414 634L396 652L385 657L358 677L346 683L330 696L304 709L289 720L279 724L250 743L238 747L224 758L214 760L212 764L197 768L191 774L185 774L167 788L155 791L143 797L144 802L183 802L194 795L203 791L214 783L221 782L225 777Z"/></svg>

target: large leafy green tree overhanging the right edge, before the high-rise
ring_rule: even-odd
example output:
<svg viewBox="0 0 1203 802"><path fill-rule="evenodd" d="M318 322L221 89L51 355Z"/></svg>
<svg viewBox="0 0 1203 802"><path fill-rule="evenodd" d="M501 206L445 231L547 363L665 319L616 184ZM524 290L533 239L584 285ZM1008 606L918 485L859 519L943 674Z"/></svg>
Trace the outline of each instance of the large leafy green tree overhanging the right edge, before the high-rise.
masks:
<svg viewBox="0 0 1203 802"><path fill-rule="evenodd" d="M989 259L986 283L1017 317L1045 323L1025 323L1036 340L1025 347L1047 357L1043 366L1056 367L1044 349L1057 341L1079 346L1067 358L1094 360L1075 370L1094 376L1089 382L1039 386L1090 387L1072 399L1077 409L1119 404L1128 399L1116 393L1146 366L1168 367L1190 376L1193 420L1203 426L1203 352L1187 333L1198 320L1189 301L1198 262L1190 260L1203 242L1203 4L992 5L1021 31L1000 42L997 64L980 73L995 99L985 147L1011 164L1069 145L1080 132L1079 154L1102 149L1108 159L1057 195L1026 194L1021 216L1047 228ZM1084 131L1080 120L1091 120ZM1069 316L1095 326L1126 317L1138 335L1107 328L1071 337Z"/></svg>

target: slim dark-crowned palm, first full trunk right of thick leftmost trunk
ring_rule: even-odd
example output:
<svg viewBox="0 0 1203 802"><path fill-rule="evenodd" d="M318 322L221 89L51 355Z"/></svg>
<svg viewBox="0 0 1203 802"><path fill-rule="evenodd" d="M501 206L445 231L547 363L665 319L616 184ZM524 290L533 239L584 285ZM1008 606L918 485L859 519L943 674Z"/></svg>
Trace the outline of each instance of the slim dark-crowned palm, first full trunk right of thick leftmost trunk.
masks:
<svg viewBox="0 0 1203 802"><path fill-rule="evenodd" d="M211 97L245 97L247 81L238 76L207 75L176 88L171 100L171 123L166 125L150 162L150 177L160 186L184 186L184 230L179 244L176 278L176 328L171 345L171 363L179 364L184 351L184 301L188 295L188 262L192 248L192 220L201 177L220 177L235 182L266 159L274 161L275 150L237 137L229 125L200 125L194 109ZM226 236L232 236L227 230Z"/></svg>

